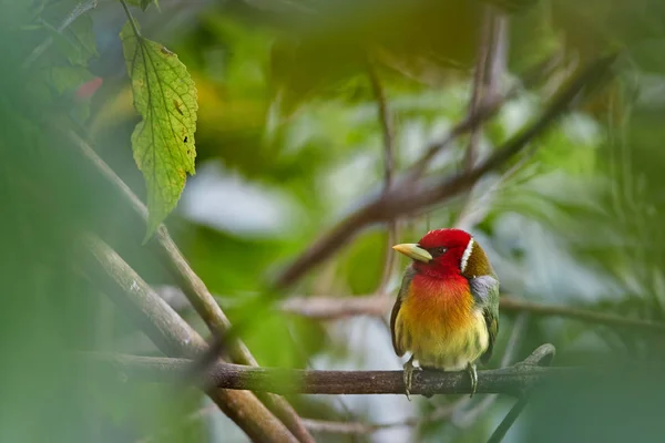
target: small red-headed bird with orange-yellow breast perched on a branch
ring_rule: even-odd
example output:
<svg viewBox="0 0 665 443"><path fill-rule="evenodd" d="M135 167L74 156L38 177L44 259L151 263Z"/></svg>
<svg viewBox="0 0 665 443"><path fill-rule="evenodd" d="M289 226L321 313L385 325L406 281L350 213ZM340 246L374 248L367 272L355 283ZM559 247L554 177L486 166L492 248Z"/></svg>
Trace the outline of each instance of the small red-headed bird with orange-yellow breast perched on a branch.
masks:
<svg viewBox="0 0 665 443"><path fill-rule="evenodd" d="M405 363L407 398L413 360L421 368L467 370L478 387L475 361L485 363L499 332L499 279L484 250L460 229L430 230L395 250L413 259L390 316L392 347Z"/></svg>

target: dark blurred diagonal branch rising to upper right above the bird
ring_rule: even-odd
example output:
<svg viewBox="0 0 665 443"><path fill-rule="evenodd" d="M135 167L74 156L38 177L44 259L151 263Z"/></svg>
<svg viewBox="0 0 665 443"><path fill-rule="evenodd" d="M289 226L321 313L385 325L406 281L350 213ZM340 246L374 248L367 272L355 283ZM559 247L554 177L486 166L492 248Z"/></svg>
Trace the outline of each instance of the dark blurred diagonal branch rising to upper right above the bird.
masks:
<svg viewBox="0 0 665 443"><path fill-rule="evenodd" d="M569 110L585 87L596 86L597 84L594 83L600 82L605 76L614 59L614 55L603 58L581 70L551 101L539 119L526 125L473 169L442 181L427 183L413 183L411 179L402 181L401 184L398 183L398 185L392 186L388 193L383 193L364 205L316 240L286 267L275 280L275 286L286 288L293 285L314 266L330 257L360 229L375 223L413 214L437 203L441 204L460 192L467 190L483 175L503 166L513 155L528 146L552 122Z"/></svg>

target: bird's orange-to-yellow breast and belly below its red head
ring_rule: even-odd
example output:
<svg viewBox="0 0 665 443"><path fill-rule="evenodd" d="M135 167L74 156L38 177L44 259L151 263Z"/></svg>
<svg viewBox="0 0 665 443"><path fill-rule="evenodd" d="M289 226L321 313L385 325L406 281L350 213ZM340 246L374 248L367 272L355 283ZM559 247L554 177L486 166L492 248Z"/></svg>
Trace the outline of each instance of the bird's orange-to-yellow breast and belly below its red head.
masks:
<svg viewBox="0 0 665 443"><path fill-rule="evenodd" d="M474 309L468 286L446 285L418 290L413 281L395 322L397 343L422 367L457 371L488 349L483 315Z"/></svg>

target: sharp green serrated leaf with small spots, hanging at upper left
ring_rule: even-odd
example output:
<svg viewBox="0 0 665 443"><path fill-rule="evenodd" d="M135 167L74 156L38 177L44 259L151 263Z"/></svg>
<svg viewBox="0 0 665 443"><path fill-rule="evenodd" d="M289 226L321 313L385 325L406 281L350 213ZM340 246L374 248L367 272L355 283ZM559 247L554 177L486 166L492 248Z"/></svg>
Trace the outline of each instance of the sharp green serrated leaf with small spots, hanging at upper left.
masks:
<svg viewBox="0 0 665 443"><path fill-rule="evenodd" d="M132 148L147 187L146 241L177 204L187 173L194 174L196 86L177 55L137 35L131 22L120 38L134 107L143 117L132 133Z"/></svg>

